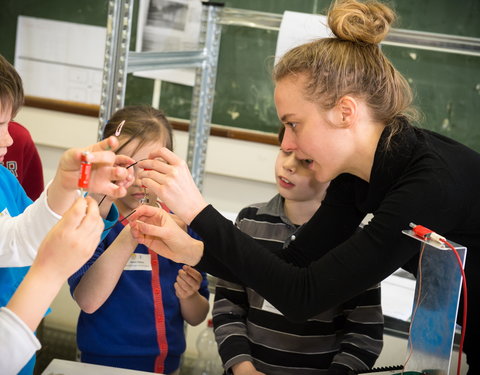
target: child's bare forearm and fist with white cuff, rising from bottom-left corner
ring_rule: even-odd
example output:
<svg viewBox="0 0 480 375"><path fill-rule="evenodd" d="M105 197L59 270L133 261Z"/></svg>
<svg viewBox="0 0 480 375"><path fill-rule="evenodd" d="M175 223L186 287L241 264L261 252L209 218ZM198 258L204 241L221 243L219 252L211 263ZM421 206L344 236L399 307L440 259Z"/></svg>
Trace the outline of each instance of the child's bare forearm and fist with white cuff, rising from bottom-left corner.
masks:
<svg viewBox="0 0 480 375"><path fill-rule="evenodd" d="M67 277L92 256L101 224L96 202L79 198L41 243L32 267L0 310L2 374L16 374L40 348L33 331Z"/></svg>

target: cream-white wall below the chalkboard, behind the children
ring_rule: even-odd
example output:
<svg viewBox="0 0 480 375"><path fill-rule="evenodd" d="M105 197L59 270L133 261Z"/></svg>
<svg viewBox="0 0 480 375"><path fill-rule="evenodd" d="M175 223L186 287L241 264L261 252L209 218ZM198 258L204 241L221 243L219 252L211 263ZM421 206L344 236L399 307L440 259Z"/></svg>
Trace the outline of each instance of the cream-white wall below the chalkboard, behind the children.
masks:
<svg viewBox="0 0 480 375"><path fill-rule="evenodd" d="M53 178L58 160L66 148L82 147L96 142L98 121L94 117L72 115L24 107L16 120L32 133L42 158L45 181ZM187 155L186 132L175 132L175 152ZM236 213L247 204L269 199L276 192L273 166L278 147L259 143L211 137L208 144L203 194L207 202L225 213ZM52 304L47 316L48 326L75 331L79 309L70 297L67 286ZM195 356L195 340L202 323L187 331L187 356ZM385 346L377 366L402 364L406 355L406 340L385 337ZM456 373L454 353L450 374ZM463 358L462 374L467 366Z"/></svg>

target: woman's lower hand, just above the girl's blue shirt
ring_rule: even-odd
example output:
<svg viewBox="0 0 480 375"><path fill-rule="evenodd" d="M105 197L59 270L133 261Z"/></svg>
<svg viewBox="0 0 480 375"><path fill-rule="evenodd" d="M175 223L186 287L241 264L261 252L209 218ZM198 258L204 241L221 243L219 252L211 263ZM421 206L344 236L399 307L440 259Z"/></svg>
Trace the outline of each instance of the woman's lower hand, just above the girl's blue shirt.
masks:
<svg viewBox="0 0 480 375"><path fill-rule="evenodd" d="M191 266L203 255L203 242L190 237L163 208L141 205L129 216L132 236L158 254Z"/></svg>

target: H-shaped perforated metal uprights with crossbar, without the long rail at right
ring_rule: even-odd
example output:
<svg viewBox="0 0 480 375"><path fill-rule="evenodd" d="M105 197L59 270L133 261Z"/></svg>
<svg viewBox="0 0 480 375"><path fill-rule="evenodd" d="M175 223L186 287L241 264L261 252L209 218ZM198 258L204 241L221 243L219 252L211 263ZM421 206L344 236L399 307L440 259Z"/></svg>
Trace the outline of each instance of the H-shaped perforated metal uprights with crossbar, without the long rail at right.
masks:
<svg viewBox="0 0 480 375"><path fill-rule="evenodd" d="M130 52L132 9L133 0L109 1L98 138L102 136L106 121L124 105L128 73L162 68L195 68L187 164L201 190L212 121L222 4L202 2L201 48L196 51Z"/></svg>

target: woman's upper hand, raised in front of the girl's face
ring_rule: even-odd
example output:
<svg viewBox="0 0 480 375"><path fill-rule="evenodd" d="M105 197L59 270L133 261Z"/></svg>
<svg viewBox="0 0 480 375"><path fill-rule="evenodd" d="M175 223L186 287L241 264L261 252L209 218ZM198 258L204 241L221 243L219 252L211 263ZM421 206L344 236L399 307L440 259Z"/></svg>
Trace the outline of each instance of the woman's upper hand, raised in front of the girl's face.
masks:
<svg viewBox="0 0 480 375"><path fill-rule="evenodd" d="M207 203L198 190L187 163L167 148L138 163L142 184L151 189L187 225Z"/></svg>

